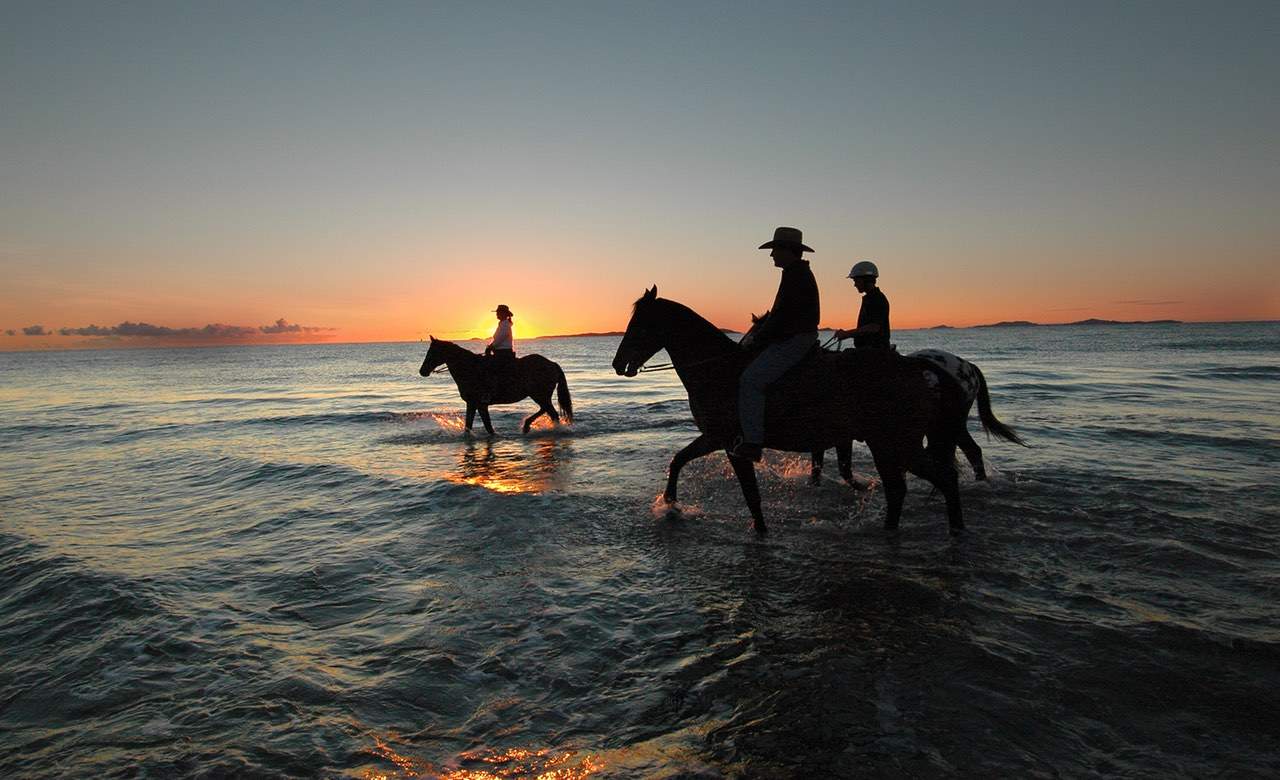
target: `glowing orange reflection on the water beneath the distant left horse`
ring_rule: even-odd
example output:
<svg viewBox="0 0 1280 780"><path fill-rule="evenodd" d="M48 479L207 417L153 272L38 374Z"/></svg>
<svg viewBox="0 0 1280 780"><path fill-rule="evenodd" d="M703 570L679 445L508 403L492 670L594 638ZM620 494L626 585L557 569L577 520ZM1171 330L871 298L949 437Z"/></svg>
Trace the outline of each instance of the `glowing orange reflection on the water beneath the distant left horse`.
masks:
<svg viewBox="0 0 1280 780"><path fill-rule="evenodd" d="M570 443L559 438L467 442L449 482L494 493L545 493L564 482L562 464Z"/></svg>

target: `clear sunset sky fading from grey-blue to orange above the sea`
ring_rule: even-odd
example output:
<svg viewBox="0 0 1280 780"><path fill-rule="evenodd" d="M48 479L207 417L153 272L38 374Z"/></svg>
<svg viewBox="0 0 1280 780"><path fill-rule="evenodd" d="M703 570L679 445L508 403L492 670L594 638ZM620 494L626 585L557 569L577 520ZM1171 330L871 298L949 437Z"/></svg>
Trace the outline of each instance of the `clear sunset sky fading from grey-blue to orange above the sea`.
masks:
<svg viewBox="0 0 1280 780"><path fill-rule="evenodd" d="M0 0L0 350L1280 319L1280 3ZM65 332L65 334L63 334ZM29 333L29 334L28 334ZM51 333L40 336L38 333Z"/></svg>

